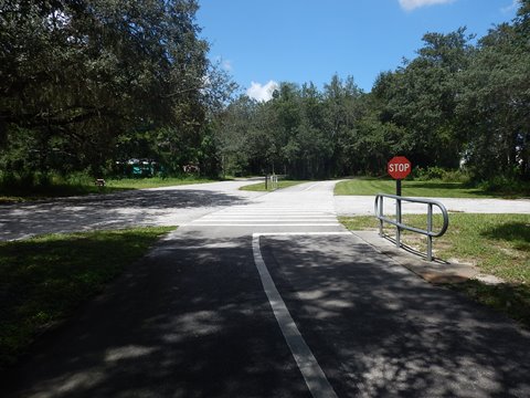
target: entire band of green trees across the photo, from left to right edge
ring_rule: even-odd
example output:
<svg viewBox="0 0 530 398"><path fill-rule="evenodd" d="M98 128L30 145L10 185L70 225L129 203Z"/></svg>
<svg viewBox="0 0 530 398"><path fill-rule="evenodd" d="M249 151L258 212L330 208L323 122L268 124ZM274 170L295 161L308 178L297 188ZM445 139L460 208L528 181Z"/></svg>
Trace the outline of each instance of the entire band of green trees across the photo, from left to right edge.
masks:
<svg viewBox="0 0 530 398"><path fill-rule="evenodd" d="M197 9L0 0L2 176L130 176L127 160L139 159L137 176L198 165L208 176L325 178L383 175L403 155L492 186L530 180L530 0L479 40L464 28L426 33L371 93L335 75L321 88L282 83L262 103L232 98Z"/></svg>

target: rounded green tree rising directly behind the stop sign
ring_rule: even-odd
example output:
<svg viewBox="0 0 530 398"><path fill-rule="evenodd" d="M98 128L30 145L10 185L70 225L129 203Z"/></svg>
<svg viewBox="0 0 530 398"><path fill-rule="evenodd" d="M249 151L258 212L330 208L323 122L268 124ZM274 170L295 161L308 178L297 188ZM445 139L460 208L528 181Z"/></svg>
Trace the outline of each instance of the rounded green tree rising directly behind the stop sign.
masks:
<svg viewBox="0 0 530 398"><path fill-rule="evenodd" d="M405 155L416 165L458 167L465 144L456 114L458 76L469 62L471 38L464 28L427 33L416 59L381 74L374 85L373 93L383 104L381 119L410 133Z"/></svg>

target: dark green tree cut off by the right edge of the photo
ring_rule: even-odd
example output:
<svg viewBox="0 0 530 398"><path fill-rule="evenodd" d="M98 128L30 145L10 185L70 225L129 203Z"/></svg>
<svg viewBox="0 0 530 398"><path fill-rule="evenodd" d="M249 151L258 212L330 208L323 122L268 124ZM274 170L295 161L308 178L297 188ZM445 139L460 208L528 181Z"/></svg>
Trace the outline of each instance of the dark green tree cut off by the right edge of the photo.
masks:
<svg viewBox="0 0 530 398"><path fill-rule="evenodd" d="M530 178L530 3L513 24L504 23L479 41L462 77L459 114L466 121L466 160L476 178Z"/></svg>

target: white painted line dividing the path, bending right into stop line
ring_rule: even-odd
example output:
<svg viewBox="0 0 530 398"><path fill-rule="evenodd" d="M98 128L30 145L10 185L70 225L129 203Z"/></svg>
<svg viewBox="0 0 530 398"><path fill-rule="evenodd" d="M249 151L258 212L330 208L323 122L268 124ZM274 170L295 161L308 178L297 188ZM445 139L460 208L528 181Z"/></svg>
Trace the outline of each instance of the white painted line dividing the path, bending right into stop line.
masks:
<svg viewBox="0 0 530 398"><path fill-rule="evenodd" d="M287 306L285 305L282 295L279 294L273 277L271 276L267 265L263 260L259 250L259 238L263 235L340 235L350 234L350 232L283 232L283 233L253 233L252 235L252 251L254 253L254 263L256 264L259 277L262 280L263 289L267 295L268 302L274 312L274 316L279 324L279 328L284 334L285 341L298 365L298 368L306 380L314 398L337 398L333 387L329 384L317 358L312 355L311 349L298 331L295 321L290 316Z"/></svg>

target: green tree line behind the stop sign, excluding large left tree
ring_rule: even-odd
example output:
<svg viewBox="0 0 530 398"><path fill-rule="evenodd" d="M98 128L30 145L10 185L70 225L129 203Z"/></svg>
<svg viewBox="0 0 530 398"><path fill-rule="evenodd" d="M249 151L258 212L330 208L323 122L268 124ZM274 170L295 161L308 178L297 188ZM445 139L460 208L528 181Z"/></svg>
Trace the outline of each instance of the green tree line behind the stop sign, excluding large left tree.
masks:
<svg viewBox="0 0 530 398"><path fill-rule="evenodd" d="M478 41L465 29L426 33L417 56L379 75L282 83L273 98L242 96L219 118L230 171L297 178L383 175L394 155L475 180L530 179L530 1ZM502 182L501 182L502 184Z"/></svg>

